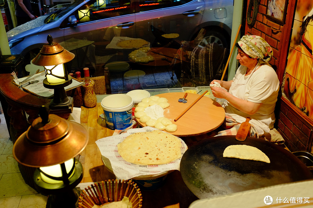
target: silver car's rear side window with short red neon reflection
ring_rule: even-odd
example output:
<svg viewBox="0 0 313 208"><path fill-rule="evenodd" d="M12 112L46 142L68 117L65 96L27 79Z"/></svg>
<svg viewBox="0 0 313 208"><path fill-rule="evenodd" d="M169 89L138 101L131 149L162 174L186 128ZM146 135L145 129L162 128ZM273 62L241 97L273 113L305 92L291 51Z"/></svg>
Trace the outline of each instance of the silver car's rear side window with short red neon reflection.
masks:
<svg viewBox="0 0 313 208"><path fill-rule="evenodd" d="M140 12L162 9L168 7L176 7L185 3L191 2L192 0L140 0Z"/></svg>

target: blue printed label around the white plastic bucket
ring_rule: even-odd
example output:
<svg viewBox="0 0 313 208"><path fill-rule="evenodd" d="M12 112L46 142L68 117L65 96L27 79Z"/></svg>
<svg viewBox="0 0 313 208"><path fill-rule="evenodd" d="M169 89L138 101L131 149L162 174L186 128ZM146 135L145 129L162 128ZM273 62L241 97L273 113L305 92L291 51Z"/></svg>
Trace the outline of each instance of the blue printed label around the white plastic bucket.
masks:
<svg viewBox="0 0 313 208"><path fill-rule="evenodd" d="M122 112L104 111L107 128L112 130L123 130L127 127L130 127L133 120L131 113L132 109Z"/></svg>

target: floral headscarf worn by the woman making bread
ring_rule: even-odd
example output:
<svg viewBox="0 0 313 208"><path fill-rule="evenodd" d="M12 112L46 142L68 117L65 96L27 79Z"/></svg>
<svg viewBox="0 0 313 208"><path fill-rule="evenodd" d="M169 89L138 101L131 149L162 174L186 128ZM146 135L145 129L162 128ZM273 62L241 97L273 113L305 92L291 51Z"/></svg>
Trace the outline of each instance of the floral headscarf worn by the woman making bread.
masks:
<svg viewBox="0 0 313 208"><path fill-rule="evenodd" d="M261 64L268 63L273 56L272 47L260 36L245 35L236 43L236 46L250 57L258 58Z"/></svg>

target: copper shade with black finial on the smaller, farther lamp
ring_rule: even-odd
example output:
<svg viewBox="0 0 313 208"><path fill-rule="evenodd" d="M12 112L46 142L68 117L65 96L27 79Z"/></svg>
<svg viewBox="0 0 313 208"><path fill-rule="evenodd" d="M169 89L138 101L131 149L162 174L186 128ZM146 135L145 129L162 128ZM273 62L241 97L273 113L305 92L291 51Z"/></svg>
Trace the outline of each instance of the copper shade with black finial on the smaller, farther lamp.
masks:
<svg viewBox="0 0 313 208"><path fill-rule="evenodd" d="M48 44L44 44L38 55L32 60L34 65L54 66L74 59L74 53L67 51L59 43L52 42L52 36L48 35L47 41Z"/></svg>

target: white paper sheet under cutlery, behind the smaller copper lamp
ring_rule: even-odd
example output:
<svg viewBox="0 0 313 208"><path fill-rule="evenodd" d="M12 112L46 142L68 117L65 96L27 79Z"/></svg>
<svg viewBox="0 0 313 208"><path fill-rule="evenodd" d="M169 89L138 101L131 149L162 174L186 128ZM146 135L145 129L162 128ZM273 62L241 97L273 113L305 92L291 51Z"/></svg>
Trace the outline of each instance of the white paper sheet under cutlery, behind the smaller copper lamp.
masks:
<svg viewBox="0 0 313 208"><path fill-rule="evenodd" d="M20 86L19 83L22 82L23 80L25 80L27 77L14 79L14 84ZM54 95L54 89L48 89L48 88L44 87L43 80L45 78L46 78L45 72L44 71L39 72L37 75L34 75L33 78L29 79L26 83L28 83L30 81L34 81L34 80L38 80L39 82L30 84L30 85L26 85L25 87L22 86L22 88L29 91L32 94L37 95L38 97L41 97L41 98L52 97ZM21 85L25 85L26 83L23 83ZM70 89L74 89L74 88L82 86L84 84L85 84L85 82L83 82L81 80L77 80L75 78L72 78L72 83L70 85L64 87L64 89L65 89L65 91L68 91Z"/></svg>

